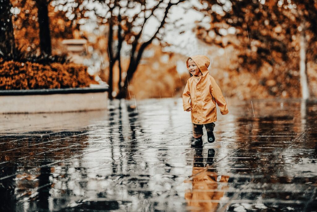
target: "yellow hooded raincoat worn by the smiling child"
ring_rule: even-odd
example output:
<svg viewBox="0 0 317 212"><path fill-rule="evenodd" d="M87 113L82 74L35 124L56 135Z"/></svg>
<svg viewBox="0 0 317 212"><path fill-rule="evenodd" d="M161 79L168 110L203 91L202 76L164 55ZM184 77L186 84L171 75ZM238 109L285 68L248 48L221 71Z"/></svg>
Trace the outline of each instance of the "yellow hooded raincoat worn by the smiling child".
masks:
<svg viewBox="0 0 317 212"><path fill-rule="evenodd" d="M203 75L199 77L198 82L195 81L195 76L187 80L183 92L184 110L192 108L191 122L194 124L215 122L217 121L216 102L223 115L229 113L228 106L215 79L209 75L210 60L204 55L195 55L190 58L196 63ZM187 67L188 59L186 61Z"/></svg>

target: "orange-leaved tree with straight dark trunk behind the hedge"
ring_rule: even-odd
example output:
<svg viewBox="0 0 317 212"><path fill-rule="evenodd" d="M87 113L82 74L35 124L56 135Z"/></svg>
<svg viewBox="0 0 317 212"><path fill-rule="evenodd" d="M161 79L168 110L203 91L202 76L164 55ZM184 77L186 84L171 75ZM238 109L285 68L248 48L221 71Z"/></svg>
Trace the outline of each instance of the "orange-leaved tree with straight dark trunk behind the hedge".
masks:
<svg viewBox="0 0 317 212"><path fill-rule="evenodd" d="M52 40L72 38L72 21L65 11L55 10L52 1L22 0L12 4L18 11L13 16L16 47L22 52L50 55L54 50Z"/></svg>

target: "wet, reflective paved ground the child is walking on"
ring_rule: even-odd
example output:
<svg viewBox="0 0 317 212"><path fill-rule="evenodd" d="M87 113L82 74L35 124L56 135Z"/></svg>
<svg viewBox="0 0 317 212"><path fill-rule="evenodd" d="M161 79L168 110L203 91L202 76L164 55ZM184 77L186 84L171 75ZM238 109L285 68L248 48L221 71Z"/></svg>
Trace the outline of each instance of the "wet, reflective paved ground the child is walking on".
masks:
<svg viewBox="0 0 317 212"><path fill-rule="evenodd" d="M0 211L317 211L317 101L228 105L196 148L181 99L2 114Z"/></svg>

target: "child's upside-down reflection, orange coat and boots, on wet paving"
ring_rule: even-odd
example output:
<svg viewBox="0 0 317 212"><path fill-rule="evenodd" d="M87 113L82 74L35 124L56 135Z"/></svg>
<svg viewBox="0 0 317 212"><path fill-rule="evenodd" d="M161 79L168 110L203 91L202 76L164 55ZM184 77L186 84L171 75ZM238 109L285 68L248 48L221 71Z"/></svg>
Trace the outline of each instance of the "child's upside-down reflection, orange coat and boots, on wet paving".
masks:
<svg viewBox="0 0 317 212"><path fill-rule="evenodd" d="M193 177L191 179L192 188L190 192L185 193L187 205L191 207L191 211L217 211L217 200L223 197L224 192L214 190L218 189L218 183L228 182L229 176L218 176L216 172L208 171L208 168L204 167L203 149L195 149L195 151L192 170ZM212 165L214 155L215 150L208 149L206 166ZM219 177L220 180L218 181L217 178ZM228 186L225 185L221 189L227 187Z"/></svg>

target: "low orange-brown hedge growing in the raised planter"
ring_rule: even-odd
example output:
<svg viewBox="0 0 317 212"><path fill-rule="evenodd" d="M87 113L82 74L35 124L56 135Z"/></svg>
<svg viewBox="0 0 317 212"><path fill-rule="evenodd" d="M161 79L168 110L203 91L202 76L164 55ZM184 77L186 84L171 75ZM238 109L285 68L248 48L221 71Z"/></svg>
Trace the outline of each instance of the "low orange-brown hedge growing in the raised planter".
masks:
<svg viewBox="0 0 317 212"><path fill-rule="evenodd" d="M88 87L87 67L73 63L17 62L0 58L0 90Z"/></svg>

